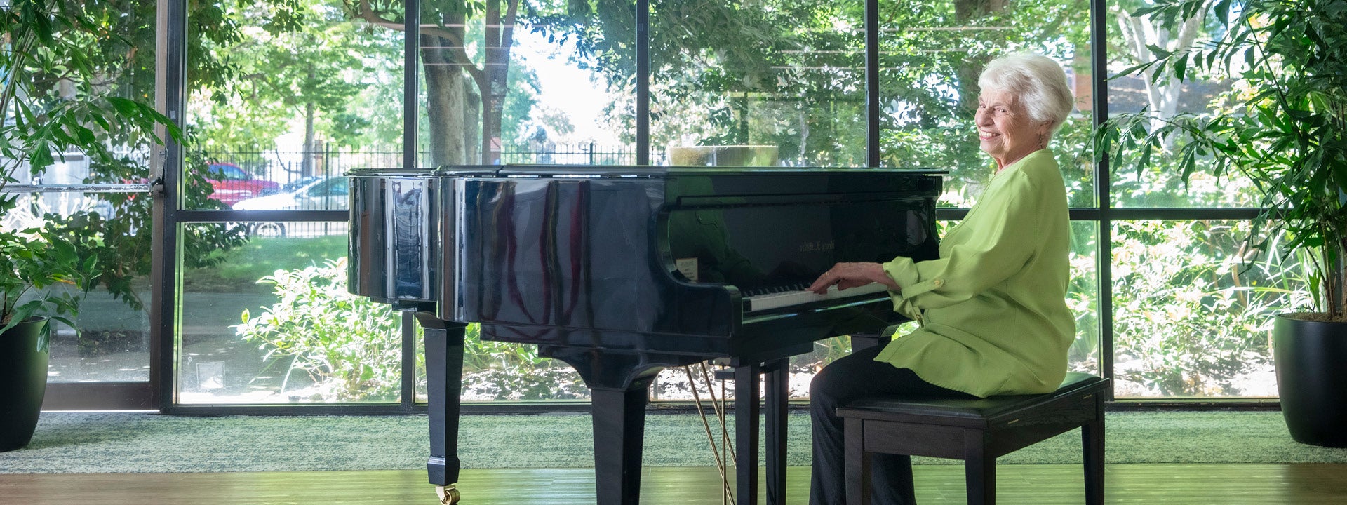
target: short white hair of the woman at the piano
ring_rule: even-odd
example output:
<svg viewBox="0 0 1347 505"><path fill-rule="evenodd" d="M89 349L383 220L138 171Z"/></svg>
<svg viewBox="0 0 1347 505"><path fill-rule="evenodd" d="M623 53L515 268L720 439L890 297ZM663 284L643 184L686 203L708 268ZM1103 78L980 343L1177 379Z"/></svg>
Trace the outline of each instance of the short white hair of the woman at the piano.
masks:
<svg viewBox="0 0 1347 505"><path fill-rule="evenodd" d="M1039 54L1013 54L993 59L978 77L978 88L1010 93L1033 121L1051 121L1056 132L1075 108L1071 85L1061 65Z"/></svg>

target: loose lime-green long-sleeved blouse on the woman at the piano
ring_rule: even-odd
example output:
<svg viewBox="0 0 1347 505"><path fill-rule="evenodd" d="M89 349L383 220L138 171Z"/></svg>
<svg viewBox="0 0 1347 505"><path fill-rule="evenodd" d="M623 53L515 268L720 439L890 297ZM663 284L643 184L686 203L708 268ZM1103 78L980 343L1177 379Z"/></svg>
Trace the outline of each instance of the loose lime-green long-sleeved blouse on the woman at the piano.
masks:
<svg viewBox="0 0 1347 505"><path fill-rule="evenodd" d="M1055 391L1075 338L1070 248L1061 172L1039 149L993 176L939 259L884 264L894 310L921 326L876 360L979 397Z"/></svg>

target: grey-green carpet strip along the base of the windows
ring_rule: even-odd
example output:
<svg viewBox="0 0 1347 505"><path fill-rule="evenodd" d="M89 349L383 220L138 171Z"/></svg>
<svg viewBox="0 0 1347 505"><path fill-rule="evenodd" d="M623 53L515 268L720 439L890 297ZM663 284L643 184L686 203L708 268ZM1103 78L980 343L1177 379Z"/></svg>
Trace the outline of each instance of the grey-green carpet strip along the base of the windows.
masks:
<svg viewBox="0 0 1347 505"><path fill-rule="evenodd" d="M808 416L788 420L788 463L810 463ZM1109 412L1110 463L1347 463L1347 450L1296 443L1280 412ZM714 427L714 424L713 424ZM0 452L0 473L287 471L423 469L424 416L42 415L27 448ZM587 415L465 416L465 469L587 467ZM1074 463L1079 432L1001 463ZM647 416L647 466L710 466L695 415ZM952 463L917 458L917 463Z"/></svg>

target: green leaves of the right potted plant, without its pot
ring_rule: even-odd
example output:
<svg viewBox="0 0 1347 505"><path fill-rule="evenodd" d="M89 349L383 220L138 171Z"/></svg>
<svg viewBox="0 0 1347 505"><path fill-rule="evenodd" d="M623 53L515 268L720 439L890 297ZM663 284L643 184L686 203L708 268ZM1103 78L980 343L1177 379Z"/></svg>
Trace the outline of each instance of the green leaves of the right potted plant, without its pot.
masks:
<svg viewBox="0 0 1347 505"><path fill-rule="evenodd" d="M1200 0L1164 0L1137 11L1171 26L1199 13L1212 16L1223 35L1177 50L1152 46L1156 59L1123 74L1239 79L1210 113L1111 119L1096 135L1098 151L1138 171L1152 159L1173 159L1185 182L1199 167L1251 180L1262 195L1251 232L1284 232L1286 250L1312 250L1319 307L1344 321L1347 0L1218 1L1210 11Z"/></svg>

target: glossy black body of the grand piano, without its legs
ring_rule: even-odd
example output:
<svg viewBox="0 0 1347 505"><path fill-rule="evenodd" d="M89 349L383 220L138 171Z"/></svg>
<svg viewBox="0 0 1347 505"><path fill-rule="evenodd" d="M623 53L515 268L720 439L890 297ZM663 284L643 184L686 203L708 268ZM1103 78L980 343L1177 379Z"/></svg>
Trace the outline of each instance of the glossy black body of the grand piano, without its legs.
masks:
<svg viewBox="0 0 1347 505"><path fill-rule="evenodd" d="M799 291L838 261L935 257L940 174L357 171L350 288L388 302L436 302L442 319L481 322L486 339L582 346L617 334L733 338L746 334L746 312L758 321L858 300L867 312L890 312L882 288ZM758 298L766 294L779 296Z"/></svg>

